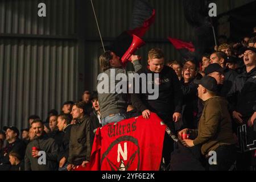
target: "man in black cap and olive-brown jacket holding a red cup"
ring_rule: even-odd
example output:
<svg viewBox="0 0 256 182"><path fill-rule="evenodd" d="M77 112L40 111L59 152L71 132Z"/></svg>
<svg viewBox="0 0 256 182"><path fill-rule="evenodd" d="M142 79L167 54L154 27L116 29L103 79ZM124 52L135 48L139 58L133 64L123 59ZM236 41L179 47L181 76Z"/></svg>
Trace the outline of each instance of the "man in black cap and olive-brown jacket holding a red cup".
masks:
<svg viewBox="0 0 256 182"><path fill-rule="evenodd" d="M201 154L208 159L210 151L215 151L217 164L207 163L210 171L227 171L236 160L236 145L232 134L232 121L228 111L228 102L217 95L217 81L211 76L194 80L198 84L198 96L205 102L198 130L183 129L179 132L190 133L191 139L181 142L184 146L201 146ZM195 139L192 139L195 138Z"/></svg>

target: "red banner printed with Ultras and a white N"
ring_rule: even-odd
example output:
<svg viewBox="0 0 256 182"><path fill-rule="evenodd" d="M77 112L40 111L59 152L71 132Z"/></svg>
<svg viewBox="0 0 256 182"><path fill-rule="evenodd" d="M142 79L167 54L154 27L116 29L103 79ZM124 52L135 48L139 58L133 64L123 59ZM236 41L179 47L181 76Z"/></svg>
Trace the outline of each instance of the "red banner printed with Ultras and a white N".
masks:
<svg viewBox="0 0 256 182"><path fill-rule="evenodd" d="M166 125L151 113L97 129L90 157L91 170L159 170ZM118 156L119 154L119 156Z"/></svg>

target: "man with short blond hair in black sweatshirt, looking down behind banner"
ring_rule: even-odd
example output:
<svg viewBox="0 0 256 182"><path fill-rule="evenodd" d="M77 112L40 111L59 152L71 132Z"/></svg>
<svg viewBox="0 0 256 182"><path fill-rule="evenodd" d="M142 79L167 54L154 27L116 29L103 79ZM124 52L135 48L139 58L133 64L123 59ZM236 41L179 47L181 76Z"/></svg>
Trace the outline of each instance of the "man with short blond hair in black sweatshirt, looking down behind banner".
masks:
<svg viewBox="0 0 256 182"><path fill-rule="evenodd" d="M146 84L158 84L159 94L155 100L150 100L150 92L139 94L142 104L133 104L143 117L149 118L150 112L158 114L173 133L175 133L174 122L181 118L181 106L183 94L181 84L174 69L164 65L164 53L160 48L152 48L148 52L148 66L142 68L139 60L133 60L135 72L139 74L152 75L147 77ZM142 85L146 86L143 82ZM141 109L143 108L143 109ZM143 111L144 110L144 111ZM171 151L173 150L173 141L166 134L164 139L163 157L168 164L170 162Z"/></svg>

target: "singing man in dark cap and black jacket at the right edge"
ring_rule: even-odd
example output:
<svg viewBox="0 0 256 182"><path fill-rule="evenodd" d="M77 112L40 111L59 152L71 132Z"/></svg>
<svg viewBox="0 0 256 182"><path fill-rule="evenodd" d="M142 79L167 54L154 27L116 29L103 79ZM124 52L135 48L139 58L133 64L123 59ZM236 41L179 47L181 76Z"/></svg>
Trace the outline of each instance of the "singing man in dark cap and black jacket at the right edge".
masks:
<svg viewBox="0 0 256 182"><path fill-rule="evenodd" d="M254 154L251 151L256 150L256 132L253 131L256 119L256 48L244 49L243 63L246 71L234 80L228 101L234 118L234 131L241 136L237 152L237 169L250 170L251 166L255 166Z"/></svg>

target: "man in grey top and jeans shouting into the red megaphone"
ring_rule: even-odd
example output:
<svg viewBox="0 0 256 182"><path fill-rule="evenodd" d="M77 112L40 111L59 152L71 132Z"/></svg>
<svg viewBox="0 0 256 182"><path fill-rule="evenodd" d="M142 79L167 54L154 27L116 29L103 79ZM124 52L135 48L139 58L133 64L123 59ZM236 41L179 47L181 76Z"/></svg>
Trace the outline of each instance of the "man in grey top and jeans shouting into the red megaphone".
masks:
<svg viewBox="0 0 256 182"><path fill-rule="evenodd" d="M137 50L137 48L134 50ZM133 51L130 51L130 53L132 52ZM129 60L130 58L132 61L138 60L139 56L126 56L125 61ZM113 51L106 51L100 56L100 65L103 73L98 76L97 92L98 101L101 108L102 126L127 118L126 111L128 106L129 92L120 92L120 90L117 89L119 84L128 85L127 79L121 81L120 79L117 79L118 75L128 75L128 72L123 69L125 61L122 64L120 57L117 56ZM135 100L136 97L136 95L133 96ZM137 100L137 102L139 101L140 100ZM143 105L141 102L139 103L140 105Z"/></svg>

